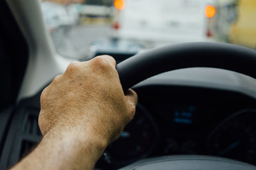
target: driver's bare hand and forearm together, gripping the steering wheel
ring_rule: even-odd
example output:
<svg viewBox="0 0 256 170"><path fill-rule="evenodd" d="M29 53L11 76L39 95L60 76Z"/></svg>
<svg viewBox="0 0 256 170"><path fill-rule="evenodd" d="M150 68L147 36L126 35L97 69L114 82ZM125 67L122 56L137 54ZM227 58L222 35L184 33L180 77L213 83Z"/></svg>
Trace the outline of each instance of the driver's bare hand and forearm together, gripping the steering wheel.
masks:
<svg viewBox="0 0 256 170"><path fill-rule="evenodd" d="M134 117L138 97L124 94L108 55L72 62L42 92L42 141L12 169L93 169Z"/></svg>

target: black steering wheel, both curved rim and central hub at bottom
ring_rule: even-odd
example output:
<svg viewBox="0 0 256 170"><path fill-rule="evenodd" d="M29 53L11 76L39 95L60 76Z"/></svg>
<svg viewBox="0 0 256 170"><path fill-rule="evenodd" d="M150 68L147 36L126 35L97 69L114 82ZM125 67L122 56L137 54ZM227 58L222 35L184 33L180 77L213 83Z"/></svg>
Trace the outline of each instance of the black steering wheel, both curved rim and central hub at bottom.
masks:
<svg viewBox="0 0 256 170"><path fill-rule="evenodd" d="M199 42L169 45L117 64L124 92L147 78L166 71L188 67L214 67L256 78L256 50L225 43ZM256 169L230 159L209 156L157 157L140 160L124 169Z"/></svg>

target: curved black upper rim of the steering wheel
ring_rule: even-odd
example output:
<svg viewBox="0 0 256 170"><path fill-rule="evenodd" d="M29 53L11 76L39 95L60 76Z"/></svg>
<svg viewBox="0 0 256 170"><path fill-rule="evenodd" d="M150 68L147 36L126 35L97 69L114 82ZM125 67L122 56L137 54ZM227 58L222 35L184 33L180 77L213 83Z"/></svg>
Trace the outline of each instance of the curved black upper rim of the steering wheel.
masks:
<svg viewBox="0 0 256 170"><path fill-rule="evenodd" d="M124 91L151 76L189 67L214 67L256 78L256 50L227 43L168 45L134 55L117 64Z"/></svg>

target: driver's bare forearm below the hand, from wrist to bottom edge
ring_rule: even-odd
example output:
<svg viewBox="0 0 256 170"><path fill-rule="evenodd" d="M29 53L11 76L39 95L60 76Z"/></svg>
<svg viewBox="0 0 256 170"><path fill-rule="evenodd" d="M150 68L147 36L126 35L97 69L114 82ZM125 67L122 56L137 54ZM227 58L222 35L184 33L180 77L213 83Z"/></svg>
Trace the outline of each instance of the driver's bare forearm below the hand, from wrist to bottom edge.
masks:
<svg viewBox="0 0 256 170"><path fill-rule="evenodd" d="M12 169L93 169L106 146L105 141L86 132L49 132Z"/></svg>

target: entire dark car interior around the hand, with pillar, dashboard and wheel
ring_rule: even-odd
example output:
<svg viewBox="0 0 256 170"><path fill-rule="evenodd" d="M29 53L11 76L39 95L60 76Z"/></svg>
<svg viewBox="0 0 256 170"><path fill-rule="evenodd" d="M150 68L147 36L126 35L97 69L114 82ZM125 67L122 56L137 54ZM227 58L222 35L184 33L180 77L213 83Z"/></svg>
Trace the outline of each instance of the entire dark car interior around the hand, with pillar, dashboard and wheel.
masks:
<svg viewBox="0 0 256 170"><path fill-rule="evenodd" d="M0 13L0 169L8 169L42 139L40 95L72 59L55 52L38 1L0 1ZM95 169L256 169L256 50L196 42L105 54L139 103Z"/></svg>

